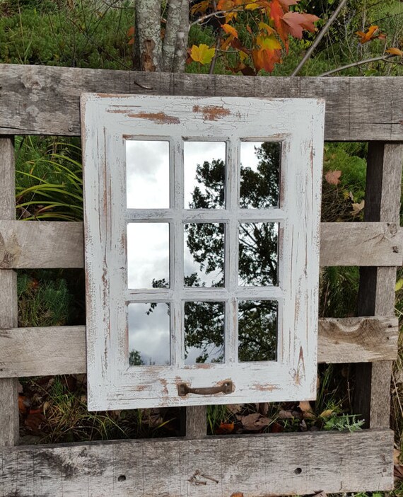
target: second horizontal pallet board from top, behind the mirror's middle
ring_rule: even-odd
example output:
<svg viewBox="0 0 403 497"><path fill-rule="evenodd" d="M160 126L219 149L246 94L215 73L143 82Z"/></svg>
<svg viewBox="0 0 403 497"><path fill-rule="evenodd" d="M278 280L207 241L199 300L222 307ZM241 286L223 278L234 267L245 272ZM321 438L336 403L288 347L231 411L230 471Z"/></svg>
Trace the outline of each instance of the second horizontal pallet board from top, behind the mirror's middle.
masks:
<svg viewBox="0 0 403 497"><path fill-rule="evenodd" d="M0 268L82 268L81 222L0 221ZM403 264L395 223L322 223L320 265Z"/></svg>

